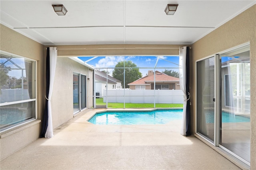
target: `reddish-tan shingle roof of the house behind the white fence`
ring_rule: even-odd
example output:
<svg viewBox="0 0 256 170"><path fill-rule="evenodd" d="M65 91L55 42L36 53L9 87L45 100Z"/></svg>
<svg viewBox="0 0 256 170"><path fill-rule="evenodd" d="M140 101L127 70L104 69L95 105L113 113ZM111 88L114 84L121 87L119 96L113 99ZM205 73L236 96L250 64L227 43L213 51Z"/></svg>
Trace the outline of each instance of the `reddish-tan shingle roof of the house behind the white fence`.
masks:
<svg viewBox="0 0 256 170"><path fill-rule="evenodd" d="M156 82L178 82L180 81L179 78L172 77L170 75L166 75L164 73L161 73L160 71L156 71ZM132 83L129 83L128 85L143 85L150 82L154 82L154 75L146 75L145 77L142 77Z"/></svg>

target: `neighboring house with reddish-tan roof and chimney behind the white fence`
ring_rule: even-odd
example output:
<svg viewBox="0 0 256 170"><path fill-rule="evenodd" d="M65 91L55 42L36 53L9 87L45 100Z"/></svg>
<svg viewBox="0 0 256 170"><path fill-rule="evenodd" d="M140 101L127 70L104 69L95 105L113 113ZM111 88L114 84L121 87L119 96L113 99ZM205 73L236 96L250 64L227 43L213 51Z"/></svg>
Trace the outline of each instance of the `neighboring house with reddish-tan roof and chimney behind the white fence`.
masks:
<svg viewBox="0 0 256 170"><path fill-rule="evenodd" d="M156 89L160 90L180 90L180 79L176 77L172 77L170 75L166 75L161 73L160 71L156 71ZM142 77L132 83L128 84L130 89L139 90L153 90L154 89L154 71L149 70L148 75Z"/></svg>

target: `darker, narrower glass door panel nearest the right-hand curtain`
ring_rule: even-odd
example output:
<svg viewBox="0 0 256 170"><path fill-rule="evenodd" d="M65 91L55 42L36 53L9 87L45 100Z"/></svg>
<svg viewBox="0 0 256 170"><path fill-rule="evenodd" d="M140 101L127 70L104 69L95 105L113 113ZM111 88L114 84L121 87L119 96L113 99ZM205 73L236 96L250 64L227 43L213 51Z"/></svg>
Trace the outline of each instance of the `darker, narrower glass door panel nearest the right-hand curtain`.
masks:
<svg viewBox="0 0 256 170"><path fill-rule="evenodd" d="M214 57L196 63L196 129L214 142Z"/></svg>

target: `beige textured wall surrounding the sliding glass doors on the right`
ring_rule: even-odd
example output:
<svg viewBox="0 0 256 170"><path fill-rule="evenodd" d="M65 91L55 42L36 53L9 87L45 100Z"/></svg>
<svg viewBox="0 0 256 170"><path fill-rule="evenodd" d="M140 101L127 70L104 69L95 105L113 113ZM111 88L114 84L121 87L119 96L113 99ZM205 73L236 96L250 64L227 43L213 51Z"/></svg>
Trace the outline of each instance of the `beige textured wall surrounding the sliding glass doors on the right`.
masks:
<svg viewBox="0 0 256 170"><path fill-rule="evenodd" d="M220 26L204 38L192 44L190 60L190 94L192 109L192 130L195 132L196 122L196 75L195 62L209 55L214 55L242 43L250 42L251 66L251 169L256 169L256 5Z"/></svg>

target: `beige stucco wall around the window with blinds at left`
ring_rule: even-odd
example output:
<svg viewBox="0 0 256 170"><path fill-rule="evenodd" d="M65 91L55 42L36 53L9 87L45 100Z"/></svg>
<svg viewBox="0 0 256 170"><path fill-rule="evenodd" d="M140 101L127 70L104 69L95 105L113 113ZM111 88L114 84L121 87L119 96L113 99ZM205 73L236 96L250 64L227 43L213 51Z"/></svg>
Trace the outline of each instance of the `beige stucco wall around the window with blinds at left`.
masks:
<svg viewBox="0 0 256 170"><path fill-rule="evenodd" d="M37 117L44 110L44 46L0 24L0 49L37 61ZM39 137L40 121L0 133L1 159Z"/></svg>

